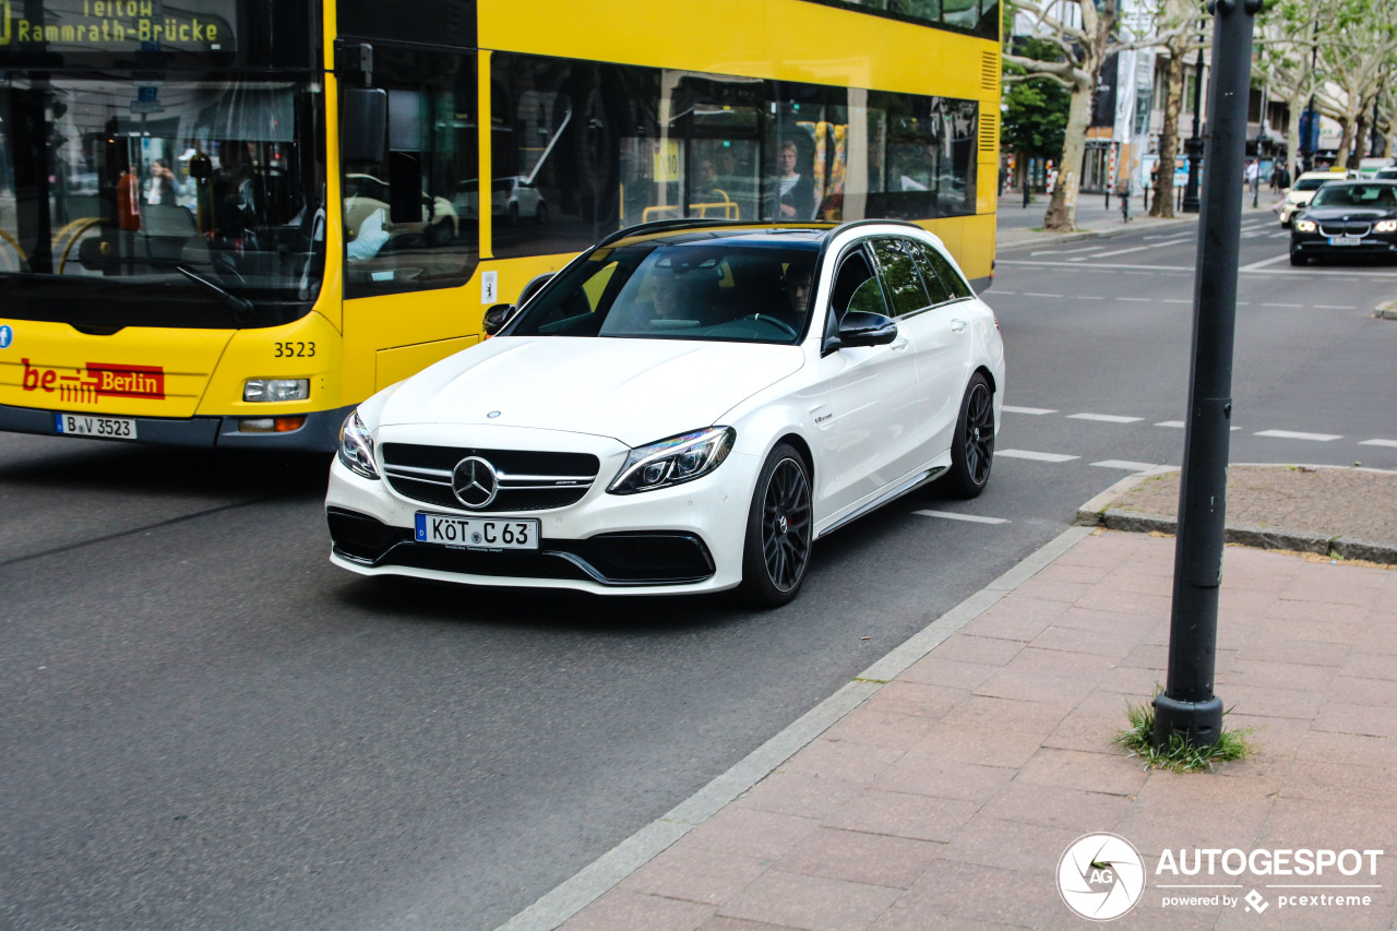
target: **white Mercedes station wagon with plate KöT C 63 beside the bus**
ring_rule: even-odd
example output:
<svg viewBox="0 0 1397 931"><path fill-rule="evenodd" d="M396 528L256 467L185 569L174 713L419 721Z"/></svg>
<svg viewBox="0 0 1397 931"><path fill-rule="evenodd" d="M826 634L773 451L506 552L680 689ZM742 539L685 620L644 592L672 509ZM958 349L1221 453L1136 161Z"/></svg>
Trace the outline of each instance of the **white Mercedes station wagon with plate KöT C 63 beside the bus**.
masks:
<svg viewBox="0 0 1397 931"><path fill-rule="evenodd" d="M919 226L661 221L525 291L345 421L335 565L780 605L820 537L989 481L999 322Z"/></svg>

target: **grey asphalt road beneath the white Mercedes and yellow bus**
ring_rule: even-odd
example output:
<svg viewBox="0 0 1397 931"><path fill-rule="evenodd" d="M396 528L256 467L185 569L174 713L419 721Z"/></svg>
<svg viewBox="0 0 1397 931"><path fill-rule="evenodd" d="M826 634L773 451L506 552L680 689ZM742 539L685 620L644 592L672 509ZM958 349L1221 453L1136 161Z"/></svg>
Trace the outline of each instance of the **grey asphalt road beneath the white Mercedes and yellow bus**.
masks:
<svg viewBox="0 0 1397 931"><path fill-rule="evenodd" d="M1291 270L1259 229L1234 461L1397 468L1397 322L1369 316L1397 274ZM821 541L766 614L376 584L326 558L321 457L0 438L0 927L506 921L1081 502L1182 461L1157 424L1185 417L1192 242L1147 235L1002 253L989 491Z"/></svg>

